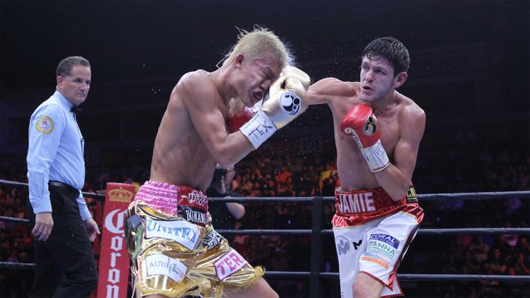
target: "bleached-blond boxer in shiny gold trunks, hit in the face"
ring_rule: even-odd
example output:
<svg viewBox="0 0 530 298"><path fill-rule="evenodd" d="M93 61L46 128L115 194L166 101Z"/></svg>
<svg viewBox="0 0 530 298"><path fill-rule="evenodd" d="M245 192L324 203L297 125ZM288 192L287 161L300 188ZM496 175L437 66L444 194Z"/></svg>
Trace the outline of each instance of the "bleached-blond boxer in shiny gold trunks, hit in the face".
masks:
<svg viewBox="0 0 530 298"><path fill-rule="evenodd" d="M310 79L289 60L273 32L241 30L219 69L188 72L171 92L150 181L126 214L136 297L277 297L215 232L204 190L217 163L230 168L306 110Z"/></svg>

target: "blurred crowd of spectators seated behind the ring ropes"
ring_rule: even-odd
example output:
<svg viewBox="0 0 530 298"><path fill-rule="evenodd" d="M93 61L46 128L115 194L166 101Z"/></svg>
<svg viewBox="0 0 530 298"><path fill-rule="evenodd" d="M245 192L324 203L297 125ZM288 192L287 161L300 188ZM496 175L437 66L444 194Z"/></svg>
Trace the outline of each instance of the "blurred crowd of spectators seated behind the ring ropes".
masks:
<svg viewBox="0 0 530 298"><path fill-rule="evenodd" d="M466 138L469 141L469 138ZM530 190L530 155L518 150L447 150L440 154L420 152L413 181L418 193ZM499 153L500 152L500 153ZM263 154L266 153L266 154ZM124 166L125 165L125 166ZM128 166L127 166L128 165ZM235 168L231 191L244 197L333 196L340 186L334 157L259 152ZM1 177L27 181L20 157L1 157ZM135 183L149 177L146 168L131 163L99 169L86 191L104 190L108 181ZM28 191L24 187L0 185L0 216L24 218ZM92 212L97 199L86 198ZM425 210L421 228L528 228L528 199L422 201ZM235 229L311 229L311 203L245 203L244 217ZM100 211L99 211L100 212ZM324 203L322 228L331 228L335 212ZM215 214L213 214L215 217ZM253 265L271 271L308 271L311 236L248 236L230 239ZM323 237L322 272L337 272L335 244ZM32 237L25 224L0 220L0 261L33 261ZM530 275L528 235L418 236L399 272L429 274ZM307 297L308 279L269 279L280 297ZM0 270L0 297L27 297L31 270ZM408 297L530 297L530 285L507 281L402 282ZM339 297L338 281L324 279L322 297Z"/></svg>

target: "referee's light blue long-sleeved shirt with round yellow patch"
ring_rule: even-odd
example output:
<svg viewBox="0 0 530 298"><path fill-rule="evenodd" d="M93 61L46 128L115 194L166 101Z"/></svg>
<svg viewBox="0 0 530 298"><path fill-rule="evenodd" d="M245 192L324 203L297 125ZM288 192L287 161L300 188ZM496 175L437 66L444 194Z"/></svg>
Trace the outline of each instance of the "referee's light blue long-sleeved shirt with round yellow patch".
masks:
<svg viewBox="0 0 530 298"><path fill-rule="evenodd" d="M55 93L33 112L30 119L28 182L35 214L52 212L48 181L60 181L79 190L77 204L81 219L90 217L81 195L85 181L84 139L77 126L73 103Z"/></svg>

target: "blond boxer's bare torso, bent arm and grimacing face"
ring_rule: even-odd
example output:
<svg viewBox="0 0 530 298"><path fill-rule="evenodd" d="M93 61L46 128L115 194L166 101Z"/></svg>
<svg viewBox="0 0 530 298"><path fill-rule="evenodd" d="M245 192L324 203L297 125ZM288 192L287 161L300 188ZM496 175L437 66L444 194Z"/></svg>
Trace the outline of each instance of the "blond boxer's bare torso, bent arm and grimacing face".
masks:
<svg viewBox="0 0 530 298"><path fill-rule="evenodd" d="M242 132L229 132L228 112L262 100L282 69L272 54L245 61L239 54L214 72L181 77L157 132L150 180L206 190L217 163L230 168L254 150Z"/></svg>

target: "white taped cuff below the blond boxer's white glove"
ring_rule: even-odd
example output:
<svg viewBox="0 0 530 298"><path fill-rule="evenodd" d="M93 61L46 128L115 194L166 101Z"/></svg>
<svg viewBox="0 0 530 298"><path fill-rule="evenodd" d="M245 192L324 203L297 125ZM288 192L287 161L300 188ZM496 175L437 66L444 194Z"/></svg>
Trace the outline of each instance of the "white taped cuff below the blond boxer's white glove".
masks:
<svg viewBox="0 0 530 298"><path fill-rule="evenodd" d="M257 149L278 129L265 112L258 110L256 115L239 128L239 130L252 143L254 149Z"/></svg>

